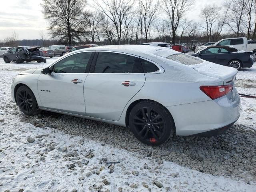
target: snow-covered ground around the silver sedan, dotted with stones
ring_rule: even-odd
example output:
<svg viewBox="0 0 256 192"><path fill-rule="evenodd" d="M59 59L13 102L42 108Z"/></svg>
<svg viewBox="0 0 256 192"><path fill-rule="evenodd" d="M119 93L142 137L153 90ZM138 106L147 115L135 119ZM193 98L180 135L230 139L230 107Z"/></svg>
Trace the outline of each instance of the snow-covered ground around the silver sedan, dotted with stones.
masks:
<svg viewBox="0 0 256 192"><path fill-rule="evenodd" d="M47 59L47 62L53 62L56 58ZM24 122L26 117L11 102L12 77L20 70L41 68L44 65L6 64L0 58L1 192L18 192L22 189L31 192L255 191L255 175L248 176L250 181L227 176L224 172L225 176L213 176L150 156L139 158L136 152L115 148L111 143L96 142L90 136L74 136L58 128L42 126L40 120L36 120L34 125ZM238 92L256 96L256 65L238 72L236 86ZM236 124L256 130L256 99L241 100L241 116ZM106 129L105 134L110 132ZM251 142L255 143L255 140ZM250 158L255 162L255 149L251 150L251 154L253 156ZM120 163L105 164L102 160ZM246 163L246 159L240 163ZM252 166L252 169L256 172L255 167Z"/></svg>

